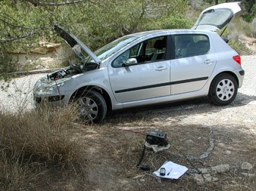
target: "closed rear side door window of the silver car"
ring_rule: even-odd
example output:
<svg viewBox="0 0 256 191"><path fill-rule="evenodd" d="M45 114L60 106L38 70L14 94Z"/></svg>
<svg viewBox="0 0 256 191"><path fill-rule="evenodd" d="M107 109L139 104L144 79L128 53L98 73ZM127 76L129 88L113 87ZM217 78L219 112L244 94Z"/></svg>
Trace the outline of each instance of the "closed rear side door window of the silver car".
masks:
<svg viewBox="0 0 256 191"><path fill-rule="evenodd" d="M207 35L174 35L175 58L208 54L210 41Z"/></svg>

